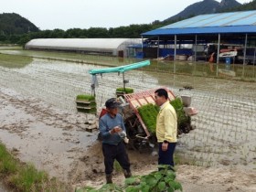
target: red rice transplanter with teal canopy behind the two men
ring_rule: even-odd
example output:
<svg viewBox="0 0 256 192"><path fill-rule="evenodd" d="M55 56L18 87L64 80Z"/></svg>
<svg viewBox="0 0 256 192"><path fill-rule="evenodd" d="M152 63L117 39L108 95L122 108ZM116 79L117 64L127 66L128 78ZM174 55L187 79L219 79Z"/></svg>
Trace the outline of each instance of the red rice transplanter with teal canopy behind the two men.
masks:
<svg viewBox="0 0 256 192"><path fill-rule="evenodd" d="M92 77L94 76L94 79L96 78L96 75L99 75L102 73L112 73L112 72L123 73L123 91L124 92L123 92L123 95L117 96L122 103L120 113L123 114L123 120L126 127L127 138L129 139L129 145L133 149L139 150L139 151L143 149L144 146L157 144L155 133L151 133L149 131L149 127L145 125L144 120L138 111L140 107L143 107L146 104L155 104L156 89L126 94L125 83L127 81L124 80L124 71L141 68L147 65L150 65L149 60L133 63L126 66L119 66L119 67L106 68L106 69L91 69L89 71ZM95 84L95 80L92 80L92 84ZM91 86L91 88L95 89L95 86ZM175 101L176 100L175 94L166 88L164 89L168 92L168 100ZM95 91L92 91L92 92L95 92ZM189 133L189 131L193 129L193 126L191 126L190 116L197 114L197 110L190 106L191 97L181 96L181 100L179 101L181 104L178 105L177 113L182 113L181 117L183 119L186 119L186 121L184 122L180 121L182 123L178 124L177 134ZM102 115L105 114L105 112L106 112L106 109L103 108L99 115L100 118ZM177 115L177 118L178 118L178 115ZM156 118L154 120L156 122ZM101 139L101 134L99 134L99 139Z"/></svg>

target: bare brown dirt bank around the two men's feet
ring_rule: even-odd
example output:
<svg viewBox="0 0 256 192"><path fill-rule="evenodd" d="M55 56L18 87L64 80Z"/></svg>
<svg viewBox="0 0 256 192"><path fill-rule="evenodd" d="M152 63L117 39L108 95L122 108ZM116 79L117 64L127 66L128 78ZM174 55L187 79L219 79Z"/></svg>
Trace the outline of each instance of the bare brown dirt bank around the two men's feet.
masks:
<svg viewBox="0 0 256 192"><path fill-rule="evenodd" d="M157 156L151 153L138 154L134 151L128 151L132 162L133 175L142 176L157 168ZM80 159L76 172L73 176L80 183L78 186L101 187L105 178L103 173L101 144L93 145L88 153ZM87 167L86 173L78 167ZM185 192L220 192L220 191L255 191L256 174L255 172L246 172L236 167L214 168L195 165L177 165L177 180L182 184ZM113 181L117 184L123 184L124 177L120 172L115 172Z"/></svg>

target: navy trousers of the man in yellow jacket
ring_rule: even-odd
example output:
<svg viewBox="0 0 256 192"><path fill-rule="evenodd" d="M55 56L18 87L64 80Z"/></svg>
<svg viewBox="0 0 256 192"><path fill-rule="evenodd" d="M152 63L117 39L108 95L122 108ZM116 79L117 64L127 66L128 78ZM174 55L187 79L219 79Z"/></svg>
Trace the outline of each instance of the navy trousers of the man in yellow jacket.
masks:
<svg viewBox="0 0 256 192"><path fill-rule="evenodd" d="M169 143L166 151L162 150L162 144L163 143L159 143L158 165L170 165L174 167L174 153L176 149L176 143Z"/></svg>

